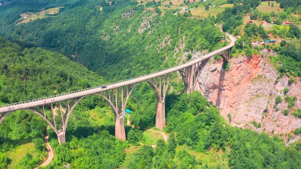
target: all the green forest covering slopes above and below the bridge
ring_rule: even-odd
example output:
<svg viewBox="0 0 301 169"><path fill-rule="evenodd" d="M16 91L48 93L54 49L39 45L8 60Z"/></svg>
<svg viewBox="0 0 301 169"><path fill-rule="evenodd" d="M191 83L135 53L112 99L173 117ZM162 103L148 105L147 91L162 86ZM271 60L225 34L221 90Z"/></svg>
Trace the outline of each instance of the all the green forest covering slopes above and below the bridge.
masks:
<svg viewBox="0 0 301 169"><path fill-rule="evenodd" d="M240 35L238 27L243 24L243 16L256 13L260 5L257 0L229 0L227 3L234 3L233 8L225 8L217 17L198 19L174 15L172 10L163 15L156 2L145 6L136 1L110 2L111 5L104 0L16 0L0 7L0 36L4 37L0 38L0 104L102 85L183 63L193 53L209 52L227 44L222 42L224 34L215 24L222 23L223 31ZM292 6L292 1L282 0L281 8L287 14L297 13L300 2L293 3ZM17 24L22 13L55 7L63 7L57 15ZM252 40L268 39L269 32L250 24L242 29L244 35L237 41L232 56L244 53L250 57L263 49L253 47ZM285 33L275 33L283 38L300 37L295 25L290 25ZM279 54L270 59L280 76L301 77L299 40L264 47ZM87 97L74 110L63 146L59 146L57 135L52 129L47 130L47 123L40 117L17 111L0 125L0 168L12 167L12 163L15 168L38 166L46 158L46 130L55 151L55 158L46 168L301 165L300 143L285 146L276 135L229 126L219 115L218 107L199 92L185 94L181 80L174 79L173 90L166 97L166 143L159 139L156 148L139 146L142 132L153 126L156 117L155 94L147 83L141 83L127 107L133 110L131 117L127 116L133 126L126 126L127 141L114 137L114 115L106 102L97 97ZM300 134L300 129L294 133ZM29 144L34 145L33 150L19 161L12 161L13 152Z"/></svg>

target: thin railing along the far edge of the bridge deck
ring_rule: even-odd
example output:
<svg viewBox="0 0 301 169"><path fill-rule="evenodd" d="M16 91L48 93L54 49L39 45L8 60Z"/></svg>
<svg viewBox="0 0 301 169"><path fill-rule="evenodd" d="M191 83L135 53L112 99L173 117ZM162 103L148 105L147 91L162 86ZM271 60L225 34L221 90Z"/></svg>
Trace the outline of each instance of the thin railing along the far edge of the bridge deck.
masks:
<svg viewBox="0 0 301 169"><path fill-rule="evenodd" d="M225 48L229 47L231 48L231 44L229 44L228 46L224 46ZM227 48L228 49L228 48ZM208 54L211 54L211 53L214 53L216 51L218 51L220 49L216 49ZM136 76L136 77L133 77L133 78L129 78L129 79L123 79L123 80L120 80L120 81L115 81L115 82L111 82L111 83L108 83L108 84L105 84L105 85L99 85L99 86L96 86L96 87L91 87L91 88L87 88L87 89L82 89L82 90L78 90L78 91L72 91L72 92L68 92L68 93L63 93L63 94L59 94L59 95L54 95L54 96L48 96L48 97L43 97L43 98L38 98L38 99L33 99L33 100L28 100L28 101L22 101L22 102L17 102L17 103L11 103L11 104L5 104L5 105L0 105L0 108L2 107L8 107L8 106L13 106L13 105L19 105L19 104L24 104L24 103L31 103L31 102L35 102L35 101L40 101L40 100L46 100L46 99L51 99L51 98L56 98L56 97L60 97L60 96L66 96L66 95L70 95L70 94L73 94L73 93L79 93L79 92L83 92L83 91L88 91L88 90L92 90L92 89L98 89L98 88L101 88L102 86L111 86L111 85L115 85L116 83L121 83L121 82L124 82L124 81L129 81L129 80L132 80L132 79L137 79L137 78L140 78L140 77L143 77L143 76L148 76L148 75L152 75L152 74L156 74L156 73L159 73L159 72L163 72L163 71L166 71L168 69L173 69L175 67L178 67L178 66L182 66L184 64L187 64L189 62L192 62L196 59L199 59L199 58L194 58L188 62L185 62L185 63L182 63L180 65L176 65L176 66L173 66L173 67L169 67L169 68L165 68L165 69L162 69L162 70L159 70L159 71L156 71L156 72L153 72L153 73L148 73L148 74L144 74L144 75L140 75L140 76ZM106 89L104 89L105 91Z"/></svg>

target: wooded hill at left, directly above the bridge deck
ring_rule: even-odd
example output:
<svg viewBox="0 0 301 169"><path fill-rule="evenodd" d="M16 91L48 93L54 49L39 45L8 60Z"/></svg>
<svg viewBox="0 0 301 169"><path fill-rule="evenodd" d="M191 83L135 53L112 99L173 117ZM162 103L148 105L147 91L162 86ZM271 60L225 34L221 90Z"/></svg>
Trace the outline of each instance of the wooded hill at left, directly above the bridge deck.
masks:
<svg viewBox="0 0 301 169"><path fill-rule="evenodd" d="M64 55L22 48L0 38L0 102L13 103L105 83L105 78Z"/></svg>

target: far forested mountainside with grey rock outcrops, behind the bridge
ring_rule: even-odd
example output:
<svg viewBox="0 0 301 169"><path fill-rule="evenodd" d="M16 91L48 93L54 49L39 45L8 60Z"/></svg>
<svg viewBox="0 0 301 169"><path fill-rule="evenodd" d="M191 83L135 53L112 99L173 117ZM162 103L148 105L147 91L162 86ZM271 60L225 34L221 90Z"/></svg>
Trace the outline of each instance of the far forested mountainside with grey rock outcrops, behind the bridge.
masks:
<svg viewBox="0 0 301 169"><path fill-rule="evenodd" d="M81 1L74 6L67 2L54 17L18 25L17 19L6 21L0 35L74 55L74 60L110 81L172 66L184 51L211 51L224 45L220 43L222 33L210 20L172 13L160 16L157 7L145 9L132 1L112 6L105 1ZM103 11L99 10L100 4ZM0 18L5 20L13 9L22 9L18 4L11 6L0 8ZM180 48L182 43L184 49L173 58L175 47Z"/></svg>

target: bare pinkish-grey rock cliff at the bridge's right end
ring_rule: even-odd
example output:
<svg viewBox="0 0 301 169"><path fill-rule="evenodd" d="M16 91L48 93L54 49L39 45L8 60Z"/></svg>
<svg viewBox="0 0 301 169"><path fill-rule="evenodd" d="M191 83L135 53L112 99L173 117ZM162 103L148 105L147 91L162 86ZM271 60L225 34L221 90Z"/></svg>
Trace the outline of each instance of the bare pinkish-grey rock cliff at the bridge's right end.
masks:
<svg viewBox="0 0 301 169"><path fill-rule="evenodd" d="M274 55L262 50L263 55ZM220 114L233 126L250 128L258 132L289 133L301 127L301 119L285 116L288 109L283 90L289 88L287 95L296 96L296 108L301 108L301 82L288 84L288 77L277 79L277 70L269 63L268 57L253 55L252 58L232 58L231 68L223 70L222 60L207 64L198 79L198 90L214 105L220 107ZM275 98L283 99L274 108ZM261 127L257 124L261 124ZM255 125L254 125L255 124ZM257 128L256 128L257 127ZM284 138L288 138L284 134ZM298 139L291 138L290 142Z"/></svg>

